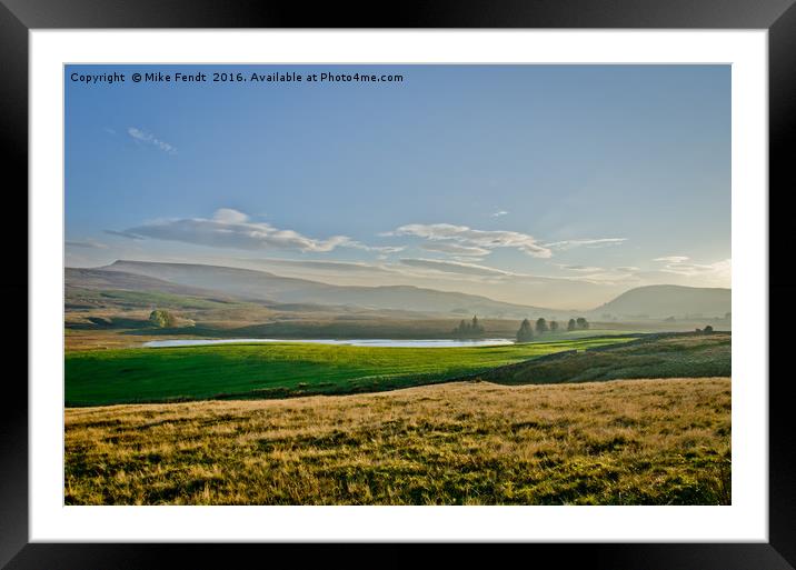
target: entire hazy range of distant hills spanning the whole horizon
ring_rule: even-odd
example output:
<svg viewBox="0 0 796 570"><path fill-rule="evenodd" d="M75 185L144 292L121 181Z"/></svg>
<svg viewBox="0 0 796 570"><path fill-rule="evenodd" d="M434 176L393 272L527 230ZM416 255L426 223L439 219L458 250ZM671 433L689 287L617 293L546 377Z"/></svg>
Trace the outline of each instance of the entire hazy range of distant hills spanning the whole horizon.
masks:
<svg viewBox="0 0 796 570"><path fill-rule="evenodd" d="M732 311L729 289L647 286L630 289L591 311L566 311L521 306L492 299L411 286L346 287L280 277L268 271L191 263L119 260L93 269L66 269L67 288L159 291L176 294L238 299L263 304L301 304L391 310L469 318L590 320L724 318Z"/></svg>

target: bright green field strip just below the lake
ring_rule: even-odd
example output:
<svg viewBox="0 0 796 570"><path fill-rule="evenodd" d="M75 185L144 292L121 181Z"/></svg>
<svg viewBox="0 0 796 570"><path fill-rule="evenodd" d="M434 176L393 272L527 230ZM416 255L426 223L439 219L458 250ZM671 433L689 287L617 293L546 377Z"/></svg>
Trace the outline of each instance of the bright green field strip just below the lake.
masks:
<svg viewBox="0 0 796 570"><path fill-rule="evenodd" d="M391 390L475 374L554 352L633 339L616 336L445 349L286 342L88 350L66 356L66 404Z"/></svg>

